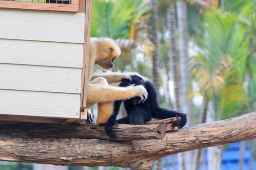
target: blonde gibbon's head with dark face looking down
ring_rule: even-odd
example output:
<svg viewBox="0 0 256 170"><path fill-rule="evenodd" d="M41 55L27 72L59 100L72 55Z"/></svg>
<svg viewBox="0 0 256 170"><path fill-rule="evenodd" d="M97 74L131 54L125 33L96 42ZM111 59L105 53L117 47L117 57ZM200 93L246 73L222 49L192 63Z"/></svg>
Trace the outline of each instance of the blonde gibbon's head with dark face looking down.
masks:
<svg viewBox="0 0 256 170"><path fill-rule="evenodd" d="M97 45L98 64L103 69L111 69L114 67L114 60L121 54L120 48L113 39L102 38Z"/></svg>

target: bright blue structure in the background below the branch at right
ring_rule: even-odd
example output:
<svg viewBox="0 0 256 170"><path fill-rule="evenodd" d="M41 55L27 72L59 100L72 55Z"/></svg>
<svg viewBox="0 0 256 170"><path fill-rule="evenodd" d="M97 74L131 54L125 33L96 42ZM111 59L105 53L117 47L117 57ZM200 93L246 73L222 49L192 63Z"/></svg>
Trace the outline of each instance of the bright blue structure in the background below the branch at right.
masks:
<svg viewBox="0 0 256 170"><path fill-rule="evenodd" d="M239 169L239 148L240 142L232 143L227 149L222 153L221 170L238 170ZM250 170L250 159L253 156L250 152L251 144L246 141L245 151L244 151L244 170ZM207 150L205 150L205 160L206 160L206 170L207 170ZM170 170L174 170L172 167L171 156L163 159L163 170L167 170L167 166L171 167ZM175 156L175 170L178 170L177 156ZM202 170L202 167L199 168ZM256 170L256 160L254 160L254 170Z"/></svg>

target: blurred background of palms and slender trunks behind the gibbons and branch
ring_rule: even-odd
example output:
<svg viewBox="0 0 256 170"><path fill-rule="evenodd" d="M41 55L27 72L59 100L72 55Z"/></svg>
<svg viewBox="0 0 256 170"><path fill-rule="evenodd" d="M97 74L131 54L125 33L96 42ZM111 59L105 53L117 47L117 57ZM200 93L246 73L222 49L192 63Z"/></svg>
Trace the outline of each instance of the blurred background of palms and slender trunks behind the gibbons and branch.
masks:
<svg viewBox="0 0 256 170"><path fill-rule="evenodd" d="M256 0L93 0L91 36L115 39L122 54L113 71L152 80L161 105L188 114L188 125L256 111ZM240 142L235 154L242 156L230 170L256 168L256 140L248 142L248 166ZM228 147L172 155L154 169L229 170L221 164ZM32 169L0 162L0 170ZM98 169L121 170L90 170Z"/></svg>

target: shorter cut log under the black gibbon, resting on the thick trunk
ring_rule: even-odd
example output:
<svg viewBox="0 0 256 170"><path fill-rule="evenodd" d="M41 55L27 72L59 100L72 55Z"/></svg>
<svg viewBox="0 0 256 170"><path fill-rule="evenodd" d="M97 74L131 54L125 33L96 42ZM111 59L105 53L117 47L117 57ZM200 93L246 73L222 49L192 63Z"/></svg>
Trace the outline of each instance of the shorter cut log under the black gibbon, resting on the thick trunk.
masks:
<svg viewBox="0 0 256 170"><path fill-rule="evenodd" d="M115 140L162 139L165 136L165 128L159 124L120 124L114 126L114 132L118 136ZM0 134L19 137L109 139L104 127L94 124L0 124Z"/></svg>

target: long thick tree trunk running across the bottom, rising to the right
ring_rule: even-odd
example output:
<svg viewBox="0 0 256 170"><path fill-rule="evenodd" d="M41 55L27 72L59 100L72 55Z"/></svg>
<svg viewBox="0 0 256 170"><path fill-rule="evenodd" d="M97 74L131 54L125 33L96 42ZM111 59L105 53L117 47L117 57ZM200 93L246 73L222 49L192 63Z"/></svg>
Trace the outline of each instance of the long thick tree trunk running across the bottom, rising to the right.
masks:
<svg viewBox="0 0 256 170"><path fill-rule="evenodd" d="M253 138L256 112L174 130L158 140L56 139L0 133L0 160L150 170L155 160L167 155Z"/></svg>

